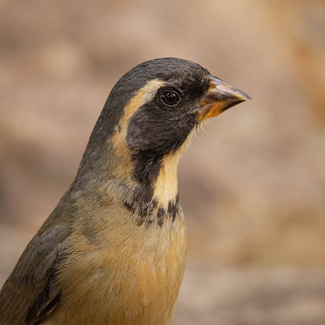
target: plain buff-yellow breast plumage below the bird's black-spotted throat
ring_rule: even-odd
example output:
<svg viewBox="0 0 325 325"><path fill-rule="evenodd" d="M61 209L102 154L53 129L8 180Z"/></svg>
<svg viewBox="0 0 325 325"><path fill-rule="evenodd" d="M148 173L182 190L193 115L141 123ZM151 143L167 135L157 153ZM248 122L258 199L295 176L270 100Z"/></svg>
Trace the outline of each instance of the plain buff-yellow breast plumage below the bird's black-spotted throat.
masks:
<svg viewBox="0 0 325 325"><path fill-rule="evenodd" d="M102 207L91 234L86 227L71 234L69 258L57 279L67 293L61 297L64 307L53 311L48 324L171 323L186 260L183 214L162 225L138 225L120 206L115 211L116 218L107 218Z"/></svg>

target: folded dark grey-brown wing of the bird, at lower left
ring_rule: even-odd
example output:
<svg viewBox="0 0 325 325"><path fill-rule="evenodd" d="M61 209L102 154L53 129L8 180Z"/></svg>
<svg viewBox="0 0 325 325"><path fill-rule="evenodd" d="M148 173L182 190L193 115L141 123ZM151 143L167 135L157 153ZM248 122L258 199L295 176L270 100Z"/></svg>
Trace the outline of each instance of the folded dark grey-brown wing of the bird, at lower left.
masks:
<svg viewBox="0 0 325 325"><path fill-rule="evenodd" d="M55 278L69 227L53 214L27 245L0 291L0 324L39 324L60 302L61 288Z"/></svg>

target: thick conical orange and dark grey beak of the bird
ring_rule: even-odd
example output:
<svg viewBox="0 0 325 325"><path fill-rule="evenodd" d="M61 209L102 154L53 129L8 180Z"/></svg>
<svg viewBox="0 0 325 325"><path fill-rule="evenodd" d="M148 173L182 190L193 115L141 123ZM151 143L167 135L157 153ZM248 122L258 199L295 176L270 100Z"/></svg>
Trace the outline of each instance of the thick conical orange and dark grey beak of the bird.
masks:
<svg viewBox="0 0 325 325"><path fill-rule="evenodd" d="M210 76L209 89L200 100L198 120L214 117L232 106L250 99L243 91L226 84L223 80Z"/></svg>

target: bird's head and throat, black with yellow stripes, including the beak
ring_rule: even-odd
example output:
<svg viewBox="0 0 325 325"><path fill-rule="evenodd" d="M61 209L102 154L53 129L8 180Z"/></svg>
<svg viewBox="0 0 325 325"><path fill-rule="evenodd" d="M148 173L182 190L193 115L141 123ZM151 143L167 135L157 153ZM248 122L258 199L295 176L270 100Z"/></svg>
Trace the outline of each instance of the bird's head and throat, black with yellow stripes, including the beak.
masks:
<svg viewBox="0 0 325 325"><path fill-rule="evenodd" d="M198 126L246 99L198 63L178 58L143 62L109 94L79 178L137 188L132 200L169 210L178 200L178 161Z"/></svg>

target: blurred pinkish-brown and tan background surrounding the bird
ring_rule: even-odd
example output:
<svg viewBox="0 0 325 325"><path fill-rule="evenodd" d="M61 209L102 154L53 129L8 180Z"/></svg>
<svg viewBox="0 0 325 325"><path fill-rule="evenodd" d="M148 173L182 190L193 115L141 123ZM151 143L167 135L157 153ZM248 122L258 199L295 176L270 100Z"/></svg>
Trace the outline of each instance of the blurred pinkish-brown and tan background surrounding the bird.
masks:
<svg viewBox="0 0 325 325"><path fill-rule="evenodd" d="M179 167L175 324L325 323L325 2L0 2L0 286L136 64L197 61L250 94Z"/></svg>

